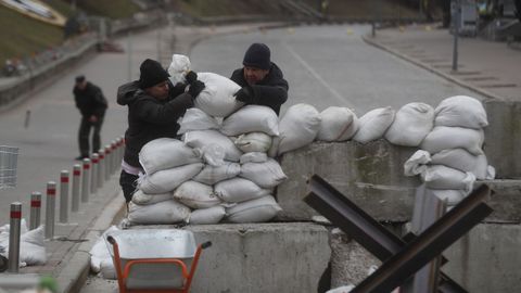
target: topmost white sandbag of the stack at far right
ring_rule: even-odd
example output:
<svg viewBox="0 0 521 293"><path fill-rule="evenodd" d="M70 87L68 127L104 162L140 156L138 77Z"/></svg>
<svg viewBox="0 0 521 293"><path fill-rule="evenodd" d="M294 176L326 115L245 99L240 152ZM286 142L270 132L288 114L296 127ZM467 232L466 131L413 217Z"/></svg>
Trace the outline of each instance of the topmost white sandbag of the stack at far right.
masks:
<svg viewBox="0 0 521 293"><path fill-rule="evenodd" d="M443 100L434 110L435 126L454 126L481 129L488 125L486 111L481 102L467 95Z"/></svg>

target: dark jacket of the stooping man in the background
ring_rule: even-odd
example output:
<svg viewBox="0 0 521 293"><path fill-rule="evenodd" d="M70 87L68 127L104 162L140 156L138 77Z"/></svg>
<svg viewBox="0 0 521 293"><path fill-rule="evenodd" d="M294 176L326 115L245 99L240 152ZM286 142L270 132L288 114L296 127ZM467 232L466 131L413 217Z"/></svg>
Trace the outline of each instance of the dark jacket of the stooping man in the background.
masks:
<svg viewBox="0 0 521 293"><path fill-rule="evenodd" d="M106 99L101 89L87 81L85 89L80 90L77 87L73 89L74 101L76 107L79 109L81 116L103 117L107 107Z"/></svg>

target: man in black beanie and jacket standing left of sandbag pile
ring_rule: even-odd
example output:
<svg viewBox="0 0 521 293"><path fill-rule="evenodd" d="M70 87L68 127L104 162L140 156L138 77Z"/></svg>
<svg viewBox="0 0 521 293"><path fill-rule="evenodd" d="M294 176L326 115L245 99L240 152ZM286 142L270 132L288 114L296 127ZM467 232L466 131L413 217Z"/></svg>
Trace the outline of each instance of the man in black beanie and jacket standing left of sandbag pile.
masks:
<svg viewBox="0 0 521 293"><path fill-rule="evenodd" d="M139 80L117 89L117 103L128 106L128 128L125 131L125 154L122 163L119 184L125 200L130 202L136 190L136 180L142 173L139 152L149 141L157 138L176 138L177 120L204 89L194 72L186 76L186 84L173 86L169 74L155 60L147 59L139 67Z"/></svg>

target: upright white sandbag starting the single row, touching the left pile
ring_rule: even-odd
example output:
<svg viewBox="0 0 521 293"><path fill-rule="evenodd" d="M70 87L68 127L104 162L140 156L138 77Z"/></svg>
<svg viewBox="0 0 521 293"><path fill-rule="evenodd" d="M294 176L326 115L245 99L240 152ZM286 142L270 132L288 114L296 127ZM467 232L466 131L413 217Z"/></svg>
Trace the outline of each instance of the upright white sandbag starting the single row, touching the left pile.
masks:
<svg viewBox="0 0 521 293"><path fill-rule="evenodd" d="M295 104L288 109L279 123L278 154L312 143L320 128L320 113L308 104Z"/></svg>

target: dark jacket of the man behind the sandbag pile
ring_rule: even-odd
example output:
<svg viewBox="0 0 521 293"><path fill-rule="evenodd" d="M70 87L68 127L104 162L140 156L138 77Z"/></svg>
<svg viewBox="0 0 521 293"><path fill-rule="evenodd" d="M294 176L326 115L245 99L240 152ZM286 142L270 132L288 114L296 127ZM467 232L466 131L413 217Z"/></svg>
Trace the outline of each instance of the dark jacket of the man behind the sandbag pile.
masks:
<svg viewBox="0 0 521 293"><path fill-rule="evenodd" d="M249 86L244 79L244 68L236 69L230 79L241 87ZM269 106L279 115L280 106L288 100L289 86L277 64L271 62L268 75L251 88L257 101L255 104Z"/></svg>

